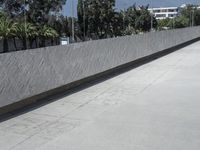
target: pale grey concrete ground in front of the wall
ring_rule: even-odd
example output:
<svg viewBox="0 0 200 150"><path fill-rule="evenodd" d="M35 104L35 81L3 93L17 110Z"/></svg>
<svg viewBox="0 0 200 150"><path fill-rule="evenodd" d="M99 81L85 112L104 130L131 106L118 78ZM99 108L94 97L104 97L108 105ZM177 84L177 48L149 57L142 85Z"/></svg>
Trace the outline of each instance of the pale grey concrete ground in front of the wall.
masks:
<svg viewBox="0 0 200 150"><path fill-rule="evenodd" d="M0 123L1 150L199 150L200 42Z"/></svg>

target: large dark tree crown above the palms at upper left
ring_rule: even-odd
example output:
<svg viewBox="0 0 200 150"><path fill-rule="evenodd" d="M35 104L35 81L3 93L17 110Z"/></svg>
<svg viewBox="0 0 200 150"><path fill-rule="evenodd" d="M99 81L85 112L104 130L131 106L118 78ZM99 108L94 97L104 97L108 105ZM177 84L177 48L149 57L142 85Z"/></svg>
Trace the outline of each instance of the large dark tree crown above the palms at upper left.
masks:
<svg viewBox="0 0 200 150"><path fill-rule="evenodd" d="M66 0L0 0L9 17L41 26L59 20L65 3Z"/></svg>

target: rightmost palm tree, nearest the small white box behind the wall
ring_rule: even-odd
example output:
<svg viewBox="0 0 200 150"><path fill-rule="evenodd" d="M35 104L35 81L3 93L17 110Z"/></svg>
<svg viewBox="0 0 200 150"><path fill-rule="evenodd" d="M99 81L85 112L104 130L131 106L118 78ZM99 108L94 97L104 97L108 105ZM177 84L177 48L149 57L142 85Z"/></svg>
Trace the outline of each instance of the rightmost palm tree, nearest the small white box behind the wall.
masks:
<svg viewBox="0 0 200 150"><path fill-rule="evenodd" d="M45 47L45 40L46 39L55 39L57 37L59 37L59 34L57 33L57 31L47 25L44 25L40 31L39 31L39 36L40 36L40 46L41 47Z"/></svg>

